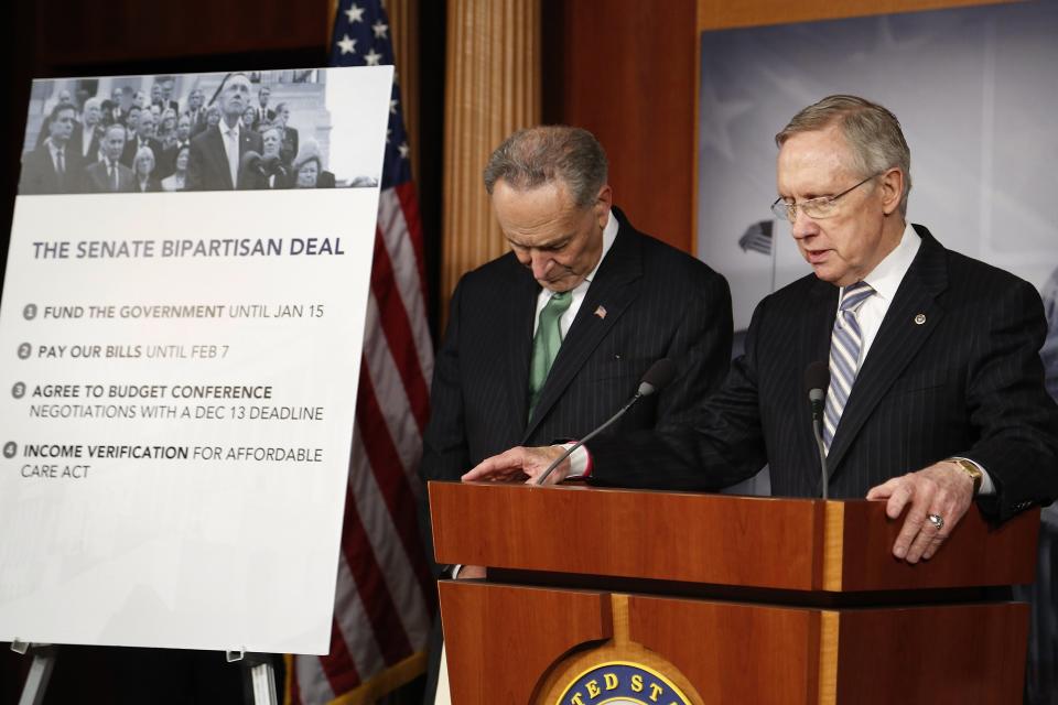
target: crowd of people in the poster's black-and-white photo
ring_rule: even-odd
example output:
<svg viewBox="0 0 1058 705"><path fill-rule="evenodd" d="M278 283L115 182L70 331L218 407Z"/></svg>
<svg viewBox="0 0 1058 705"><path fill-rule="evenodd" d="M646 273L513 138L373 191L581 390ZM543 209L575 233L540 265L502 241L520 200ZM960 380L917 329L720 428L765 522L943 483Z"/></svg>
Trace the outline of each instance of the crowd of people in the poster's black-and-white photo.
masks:
<svg viewBox="0 0 1058 705"><path fill-rule="evenodd" d="M61 90L36 145L22 156L19 193L78 194L270 188L334 188L313 139L290 124L271 88L241 73L225 76L206 100L192 89L183 106L175 79L158 76L150 94L116 87L78 101ZM77 96L82 98L82 96ZM356 180L352 186L374 186Z"/></svg>

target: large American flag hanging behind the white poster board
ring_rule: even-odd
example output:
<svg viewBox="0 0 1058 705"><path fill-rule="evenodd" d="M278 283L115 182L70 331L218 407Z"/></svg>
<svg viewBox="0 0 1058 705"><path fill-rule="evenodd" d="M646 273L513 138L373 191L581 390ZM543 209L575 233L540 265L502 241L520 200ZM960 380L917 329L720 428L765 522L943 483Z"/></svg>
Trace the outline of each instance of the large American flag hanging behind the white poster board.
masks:
<svg viewBox="0 0 1058 705"><path fill-rule="evenodd" d="M389 33L378 0L342 0L331 64L393 64ZM331 652L290 660L293 705L374 703L425 669L435 597L415 499L433 375L424 291L422 227L395 78Z"/></svg>

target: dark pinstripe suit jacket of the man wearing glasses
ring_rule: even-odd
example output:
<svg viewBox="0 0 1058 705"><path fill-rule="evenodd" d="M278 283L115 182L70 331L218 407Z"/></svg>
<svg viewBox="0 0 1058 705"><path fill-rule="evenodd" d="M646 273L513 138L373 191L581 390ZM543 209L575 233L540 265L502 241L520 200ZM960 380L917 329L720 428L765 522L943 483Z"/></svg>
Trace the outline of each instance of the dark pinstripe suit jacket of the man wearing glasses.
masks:
<svg viewBox="0 0 1058 705"><path fill-rule="evenodd" d="M832 497L863 497L946 457L987 469L1005 519L1058 496L1058 409L1044 390L1039 294L946 250L926 228L864 359L829 455ZM595 481L717 489L765 463L777 496L818 497L819 458L802 378L825 361L836 286L806 276L757 306L746 354L690 424L592 444ZM925 316L922 321L918 314ZM659 480L663 474L663 480Z"/></svg>

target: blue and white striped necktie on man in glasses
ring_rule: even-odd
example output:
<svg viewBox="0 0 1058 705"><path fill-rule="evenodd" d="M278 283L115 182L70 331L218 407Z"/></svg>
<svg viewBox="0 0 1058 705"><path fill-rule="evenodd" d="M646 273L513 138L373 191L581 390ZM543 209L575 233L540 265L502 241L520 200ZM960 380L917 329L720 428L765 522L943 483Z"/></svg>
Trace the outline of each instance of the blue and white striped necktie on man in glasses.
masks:
<svg viewBox="0 0 1058 705"><path fill-rule="evenodd" d="M838 305L834 318L834 332L830 336L830 388L827 390L827 410L823 416L823 444L830 452L830 443L845 410L852 384L860 371L860 350L863 337L860 332L857 313L874 290L866 282L856 282L846 286Z"/></svg>

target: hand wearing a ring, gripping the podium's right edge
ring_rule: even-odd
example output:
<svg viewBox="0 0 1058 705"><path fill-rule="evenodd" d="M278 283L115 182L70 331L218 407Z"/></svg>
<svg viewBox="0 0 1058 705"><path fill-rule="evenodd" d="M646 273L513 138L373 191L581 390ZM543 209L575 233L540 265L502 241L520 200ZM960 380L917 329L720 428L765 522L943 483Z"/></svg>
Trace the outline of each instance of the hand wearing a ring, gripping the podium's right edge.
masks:
<svg viewBox="0 0 1058 705"><path fill-rule="evenodd" d="M907 517L893 544L893 555L908 563L933 557L973 501L973 479L950 460L894 477L871 488L867 499L885 499L885 513Z"/></svg>

